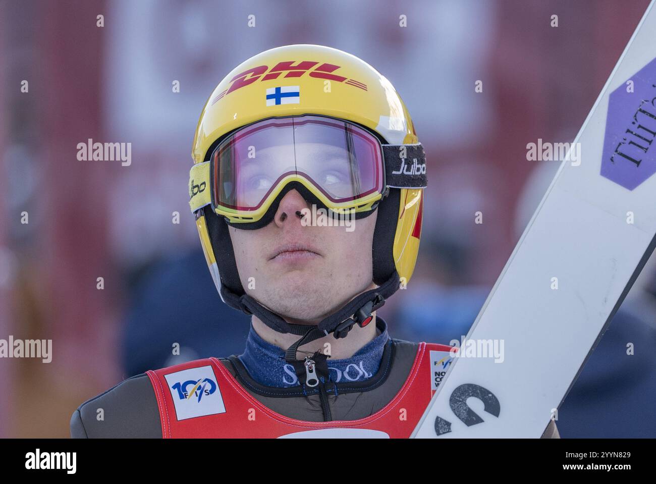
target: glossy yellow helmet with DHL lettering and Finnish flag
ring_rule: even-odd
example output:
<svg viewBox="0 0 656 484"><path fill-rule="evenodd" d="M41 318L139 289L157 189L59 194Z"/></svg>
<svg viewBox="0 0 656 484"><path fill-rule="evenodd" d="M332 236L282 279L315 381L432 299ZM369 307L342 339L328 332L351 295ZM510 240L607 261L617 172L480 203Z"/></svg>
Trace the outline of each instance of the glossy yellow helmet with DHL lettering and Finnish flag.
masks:
<svg viewBox="0 0 656 484"><path fill-rule="evenodd" d="M213 180L216 174L211 157L222 142L262 120L307 115L343 120L376 136L384 157L384 190L337 203L299 172L279 179L256 209L244 211L216 201L218 184ZM378 209L373 282L379 285L379 291L372 292L377 298L366 306L365 313L382 306L384 298L400 283L409 281L421 235L426 186L424 152L398 92L379 71L358 57L321 45L287 45L239 64L207 100L196 127L192 157L190 207L196 214L203 251L218 292L230 306L264 317L263 321L278 331L301 334L245 295L227 232L228 225L246 229L268 223L272 207L276 209L277 201L290 187L331 209L354 209L356 218ZM328 333L335 331L337 323L356 313L368 299L371 297L354 299L329 324L322 321L319 327ZM364 317L363 313L360 319ZM354 321L362 323L357 319Z"/></svg>

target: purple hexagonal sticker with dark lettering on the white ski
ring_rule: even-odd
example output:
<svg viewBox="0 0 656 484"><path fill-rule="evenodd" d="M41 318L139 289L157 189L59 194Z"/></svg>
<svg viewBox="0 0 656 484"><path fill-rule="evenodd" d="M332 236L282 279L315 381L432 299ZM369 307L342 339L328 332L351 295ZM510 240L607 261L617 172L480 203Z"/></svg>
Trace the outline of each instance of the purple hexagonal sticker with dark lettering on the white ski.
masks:
<svg viewBox="0 0 656 484"><path fill-rule="evenodd" d="M626 92L633 81L633 92ZM656 172L656 59L611 92L602 176L633 190Z"/></svg>

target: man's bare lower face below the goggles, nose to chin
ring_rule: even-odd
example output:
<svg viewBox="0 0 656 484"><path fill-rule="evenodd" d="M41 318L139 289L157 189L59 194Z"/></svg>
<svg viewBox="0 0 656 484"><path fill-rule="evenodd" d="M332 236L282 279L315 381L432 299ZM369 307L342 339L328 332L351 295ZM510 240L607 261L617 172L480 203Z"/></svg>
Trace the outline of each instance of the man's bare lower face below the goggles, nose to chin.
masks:
<svg viewBox="0 0 656 484"><path fill-rule="evenodd" d="M303 226L312 206L296 190L281 199L274 220L257 230L228 227L241 285L291 323L318 323L371 289L377 211L339 226ZM252 279L251 279L252 278Z"/></svg>

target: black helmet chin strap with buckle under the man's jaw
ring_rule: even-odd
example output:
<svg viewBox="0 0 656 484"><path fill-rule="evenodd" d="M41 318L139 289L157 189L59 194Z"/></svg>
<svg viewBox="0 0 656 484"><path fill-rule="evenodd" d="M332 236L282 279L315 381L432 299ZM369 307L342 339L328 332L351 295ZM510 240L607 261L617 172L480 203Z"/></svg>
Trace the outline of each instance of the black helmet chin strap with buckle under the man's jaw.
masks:
<svg viewBox="0 0 656 484"><path fill-rule="evenodd" d="M285 353L285 360L288 363L297 361L297 350L300 346L333 334L336 339L345 338L349 331L358 325L365 327L373 319L372 313L385 304L386 298L394 294L399 287L399 275L396 271L382 284L375 289L369 289L362 294L358 294L350 300L337 312L325 317L318 325L296 325L290 324L276 313L268 310L262 304L257 302L248 294L237 296L237 306L247 314L253 314L262 323L266 324L278 333L291 333L301 338L289 347ZM227 291L226 291L227 292ZM230 294L224 294L224 297L230 297Z"/></svg>

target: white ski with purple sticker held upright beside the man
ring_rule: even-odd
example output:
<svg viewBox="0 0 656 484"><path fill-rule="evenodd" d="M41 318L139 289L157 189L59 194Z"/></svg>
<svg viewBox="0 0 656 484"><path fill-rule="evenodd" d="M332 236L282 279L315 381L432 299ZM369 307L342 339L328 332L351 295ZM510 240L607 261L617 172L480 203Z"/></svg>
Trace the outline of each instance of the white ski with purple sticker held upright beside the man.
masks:
<svg viewBox="0 0 656 484"><path fill-rule="evenodd" d="M653 251L654 3L412 437L540 437Z"/></svg>

